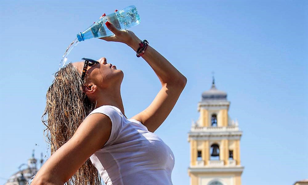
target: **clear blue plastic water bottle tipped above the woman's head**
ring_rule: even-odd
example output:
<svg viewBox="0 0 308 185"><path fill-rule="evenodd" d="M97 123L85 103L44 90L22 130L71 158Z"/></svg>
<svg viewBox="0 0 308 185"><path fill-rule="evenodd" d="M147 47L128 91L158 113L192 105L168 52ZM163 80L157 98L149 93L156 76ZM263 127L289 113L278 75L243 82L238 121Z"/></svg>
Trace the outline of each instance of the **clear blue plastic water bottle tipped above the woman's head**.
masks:
<svg viewBox="0 0 308 185"><path fill-rule="evenodd" d="M128 6L123 10L115 10L114 13L103 16L101 19L93 23L88 29L77 35L78 41L85 39L100 38L111 36L113 33L106 27L105 23L110 22L119 30L136 26L140 23L136 6Z"/></svg>

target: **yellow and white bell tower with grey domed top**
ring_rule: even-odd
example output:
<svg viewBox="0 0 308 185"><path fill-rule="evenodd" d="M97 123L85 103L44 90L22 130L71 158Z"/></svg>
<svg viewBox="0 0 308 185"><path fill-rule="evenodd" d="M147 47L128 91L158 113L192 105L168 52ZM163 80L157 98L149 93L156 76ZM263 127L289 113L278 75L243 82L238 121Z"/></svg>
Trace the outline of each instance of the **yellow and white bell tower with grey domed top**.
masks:
<svg viewBox="0 0 308 185"><path fill-rule="evenodd" d="M241 185L242 131L228 115L227 93L212 88L202 93L199 119L193 121L190 143L190 185Z"/></svg>

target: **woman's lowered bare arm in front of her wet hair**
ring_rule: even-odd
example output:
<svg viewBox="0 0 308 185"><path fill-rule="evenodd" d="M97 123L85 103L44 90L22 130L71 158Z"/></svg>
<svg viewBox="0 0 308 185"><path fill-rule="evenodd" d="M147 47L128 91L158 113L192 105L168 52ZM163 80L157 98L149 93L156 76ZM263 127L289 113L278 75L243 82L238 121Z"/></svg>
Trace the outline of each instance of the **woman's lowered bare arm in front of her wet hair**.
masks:
<svg viewBox="0 0 308 185"><path fill-rule="evenodd" d="M63 185L110 137L111 120L101 113L89 115L73 137L44 163L31 185Z"/></svg>

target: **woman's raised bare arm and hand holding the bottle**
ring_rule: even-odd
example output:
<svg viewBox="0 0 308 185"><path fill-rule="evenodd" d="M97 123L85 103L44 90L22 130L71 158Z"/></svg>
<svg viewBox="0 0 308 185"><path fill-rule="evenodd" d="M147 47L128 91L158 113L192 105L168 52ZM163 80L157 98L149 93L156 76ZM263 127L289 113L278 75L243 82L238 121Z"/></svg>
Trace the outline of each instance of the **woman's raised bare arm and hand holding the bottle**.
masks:
<svg viewBox="0 0 308 185"><path fill-rule="evenodd" d="M101 39L126 43L134 51L138 50L141 40L132 31L118 30L108 22L106 25L115 35ZM132 119L140 121L150 132L154 132L173 109L186 85L187 79L151 46L148 46L141 57L154 70L161 82L162 88L148 108L133 116Z"/></svg>

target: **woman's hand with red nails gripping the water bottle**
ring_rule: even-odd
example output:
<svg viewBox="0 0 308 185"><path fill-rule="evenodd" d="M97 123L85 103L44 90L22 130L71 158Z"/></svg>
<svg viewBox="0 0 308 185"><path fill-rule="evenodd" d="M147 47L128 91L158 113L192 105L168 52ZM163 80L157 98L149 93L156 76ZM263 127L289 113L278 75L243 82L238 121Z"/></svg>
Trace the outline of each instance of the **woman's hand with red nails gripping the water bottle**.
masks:
<svg viewBox="0 0 308 185"><path fill-rule="evenodd" d="M99 39L103 39L106 41L113 41L113 42L121 42L129 46L132 44L134 40L138 39L137 36L132 31L118 30L113 24L109 23L108 21L106 22L106 26L115 35L108 37L101 37Z"/></svg>

